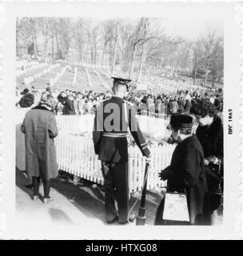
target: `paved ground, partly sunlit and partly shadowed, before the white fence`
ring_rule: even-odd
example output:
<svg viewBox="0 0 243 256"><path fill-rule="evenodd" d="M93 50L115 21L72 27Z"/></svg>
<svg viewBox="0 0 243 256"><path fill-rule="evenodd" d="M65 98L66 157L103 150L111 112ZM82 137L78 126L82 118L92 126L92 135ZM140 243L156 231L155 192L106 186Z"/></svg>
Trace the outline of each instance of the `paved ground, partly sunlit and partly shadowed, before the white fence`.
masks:
<svg viewBox="0 0 243 256"><path fill-rule="evenodd" d="M91 182L75 183L68 178L58 177L51 182L50 195L53 202L43 204L41 200L33 201L32 190L26 188L26 174L16 170L16 217L19 222L42 222L46 225L90 225L109 226L105 221L104 192L102 186L92 186ZM42 193L42 186L40 192ZM129 200L130 207L139 194ZM158 193L147 192L146 224L153 225L158 203L161 196ZM133 209L138 213L140 201ZM118 225L118 224L114 224ZM129 225L135 225L130 223Z"/></svg>

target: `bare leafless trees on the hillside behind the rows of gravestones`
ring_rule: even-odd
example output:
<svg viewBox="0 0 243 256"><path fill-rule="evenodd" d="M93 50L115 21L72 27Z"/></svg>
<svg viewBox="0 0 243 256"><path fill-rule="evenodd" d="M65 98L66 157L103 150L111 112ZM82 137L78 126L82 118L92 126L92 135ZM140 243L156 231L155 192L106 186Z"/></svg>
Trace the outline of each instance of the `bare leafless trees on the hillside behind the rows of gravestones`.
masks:
<svg viewBox="0 0 243 256"><path fill-rule="evenodd" d="M224 76L224 40L216 28L194 39L173 38L159 18L17 18L16 54L102 66L138 82L141 76L183 76L213 85Z"/></svg>

